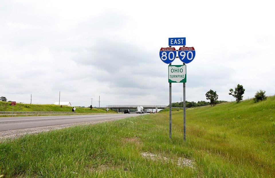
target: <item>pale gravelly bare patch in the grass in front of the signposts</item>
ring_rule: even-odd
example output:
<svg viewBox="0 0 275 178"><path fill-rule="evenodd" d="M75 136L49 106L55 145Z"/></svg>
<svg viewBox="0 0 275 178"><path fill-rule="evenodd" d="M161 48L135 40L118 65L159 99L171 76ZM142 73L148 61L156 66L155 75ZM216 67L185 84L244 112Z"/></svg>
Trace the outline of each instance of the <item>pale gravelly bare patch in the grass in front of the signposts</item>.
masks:
<svg viewBox="0 0 275 178"><path fill-rule="evenodd" d="M150 152L143 152L141 153L141 156L145 159L151 159L153 161L162 161L162 162L171 162L176 163L180 167L190 167L192 169L195 169L195 162L191 159L179 157L178 160L174 160L162 155L153 154Z"/></svg>

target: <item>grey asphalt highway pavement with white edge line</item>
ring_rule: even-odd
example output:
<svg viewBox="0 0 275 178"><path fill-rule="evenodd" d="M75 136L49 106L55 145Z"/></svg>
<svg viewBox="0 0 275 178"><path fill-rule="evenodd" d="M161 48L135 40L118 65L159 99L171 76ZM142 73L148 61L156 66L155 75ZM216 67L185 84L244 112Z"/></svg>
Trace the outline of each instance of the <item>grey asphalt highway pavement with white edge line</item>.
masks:
<svg viewBox="0 0 275 178"><path fill-rule="evenodd" d="M55 126L96 120L127 118L140 114L98 114L98 115L67 115L67 116L30 116L0 118L0 132L25 128Z"/></svg>

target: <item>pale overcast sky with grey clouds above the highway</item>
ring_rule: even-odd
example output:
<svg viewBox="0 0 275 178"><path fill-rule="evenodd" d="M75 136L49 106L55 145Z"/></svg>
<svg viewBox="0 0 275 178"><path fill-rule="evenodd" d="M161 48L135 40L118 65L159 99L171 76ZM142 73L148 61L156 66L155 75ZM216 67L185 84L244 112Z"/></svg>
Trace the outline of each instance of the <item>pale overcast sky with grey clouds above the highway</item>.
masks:
<svg viewBox="0 0 275 178"><path fill-rule="evenodd" d="M159 50L186 37L186 100L275 94L272 1L1 1L0 95L74 106L169 103L168 66ZM176 47L178 48L178 47ZM175 59L172 64L182 64ZM172 102L182 83L172 83Z"/></svg>

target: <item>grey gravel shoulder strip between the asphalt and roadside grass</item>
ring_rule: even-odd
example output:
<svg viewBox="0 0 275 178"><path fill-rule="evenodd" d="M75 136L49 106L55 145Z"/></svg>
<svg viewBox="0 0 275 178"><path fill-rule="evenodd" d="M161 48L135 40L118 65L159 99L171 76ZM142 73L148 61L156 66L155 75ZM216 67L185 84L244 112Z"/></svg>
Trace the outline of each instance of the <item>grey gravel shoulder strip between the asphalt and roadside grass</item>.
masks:
<svg viewBox="0 0 275 178"><path fill-rule="evenodd" d="M4 141L6 139L19 138L26 134L38 134L40 132L48 132L51 130L58 130L58 129L72 127L72 126L77 126L77 125L97 124L97 123L101 123L101 122L110 122L110 121L119 120L119 119L123 119L123 118L113 118L113 119L108 119L108 120L106 120L106 119L105 120L95 120L95 121L89 121L89 122L78 122L78 123L73 123L73 124L62 124L62 125L55 125L55 126L45 126L45 127L3 131L3 132L0 132L0 141Z"/></svg>

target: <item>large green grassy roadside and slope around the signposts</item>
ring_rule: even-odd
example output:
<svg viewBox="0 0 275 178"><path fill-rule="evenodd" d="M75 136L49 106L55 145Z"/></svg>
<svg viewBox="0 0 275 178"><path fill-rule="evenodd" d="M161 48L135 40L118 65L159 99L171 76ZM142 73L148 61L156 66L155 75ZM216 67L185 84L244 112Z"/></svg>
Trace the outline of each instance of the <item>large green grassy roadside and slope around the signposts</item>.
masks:
<svg viewBox="0 0 275 178"><path fill-rule="evenodd" d="M6 177L275 177L275 97L168 111L28 135L0 144ZM195 169L144 159L151 152ZM77 174L76 174L77 173Z"/></svg>

